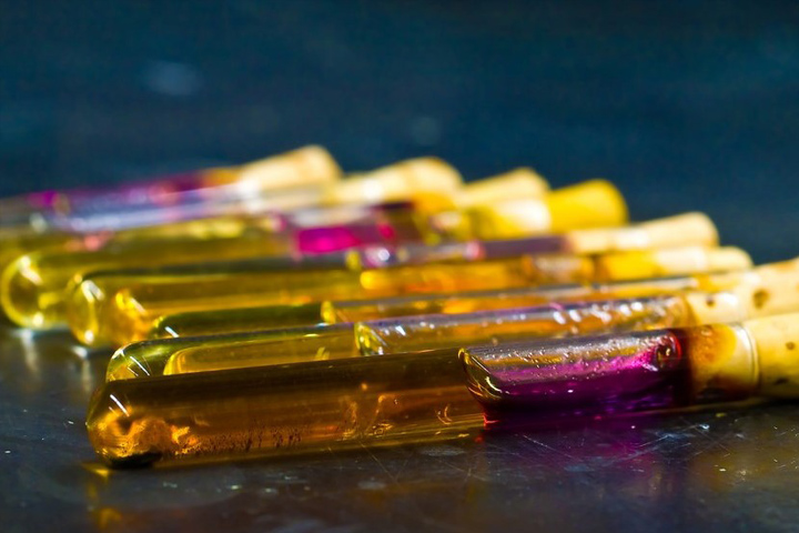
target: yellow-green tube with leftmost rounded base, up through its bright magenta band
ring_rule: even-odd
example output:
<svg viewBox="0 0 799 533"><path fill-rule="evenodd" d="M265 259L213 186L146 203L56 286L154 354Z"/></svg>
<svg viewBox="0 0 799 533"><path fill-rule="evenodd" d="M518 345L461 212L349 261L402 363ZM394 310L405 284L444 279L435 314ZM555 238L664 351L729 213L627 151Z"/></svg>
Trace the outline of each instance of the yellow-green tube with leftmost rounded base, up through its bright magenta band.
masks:
<svg viewBox="0 0 799 533"><path fill-rule="evenodd" d="M310 213L310 212L313 213ZM346 218L342 217L346 211ZM313 214L313 215L311 215ZM332 225L309 228L331 214ZM409 203L358 208L316 208L263 220L182 222L175 227L127 230L87 250L48 249L17 258L0 279L0 302L17 324L34 329L65 325L69 281L82 272L148 264L300 257L372 242L423 239ZM404 219L404 220L403 220ZM172 237L175 235L175 237ZM182 235L182 237L181 237ZM83 241L81 241L83 242Z"/></svg>

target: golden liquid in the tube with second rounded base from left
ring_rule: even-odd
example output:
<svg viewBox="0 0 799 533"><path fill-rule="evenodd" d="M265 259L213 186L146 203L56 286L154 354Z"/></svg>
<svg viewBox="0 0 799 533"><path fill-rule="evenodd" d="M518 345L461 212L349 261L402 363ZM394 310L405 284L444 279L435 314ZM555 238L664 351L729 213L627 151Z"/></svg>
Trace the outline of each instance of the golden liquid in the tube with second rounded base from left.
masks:
<svg viewBox="0 0 799 533"><path fill-rule="evenodd" d="M518 259L364 272L254 271L146 278L98 274L88 275L72 292L69 322L81 342L123 345L146 339L161 316L179 312L310 303L327 298L390 296L401 292L524 286L535 278L528 262Z"/></svg>

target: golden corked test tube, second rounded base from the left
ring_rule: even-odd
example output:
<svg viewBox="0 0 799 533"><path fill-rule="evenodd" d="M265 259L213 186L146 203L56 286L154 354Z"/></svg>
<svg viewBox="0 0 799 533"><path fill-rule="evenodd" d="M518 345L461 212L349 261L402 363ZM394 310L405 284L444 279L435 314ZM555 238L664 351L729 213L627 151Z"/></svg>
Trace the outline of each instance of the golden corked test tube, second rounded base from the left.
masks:
<svg viewBox="0 0 799 533"><path fill-rule="evenodd" d="M70 329L87 344L142 340L155 321L176 312L242 304L307 303L324 299L400 293L520 288L580 281L643 279L691 272L742 270L738 249L680 248L600 255L524 255L476 263L414 264L364 271L236 271L234 275L125 276L88 274L72 289Z"/></svg>

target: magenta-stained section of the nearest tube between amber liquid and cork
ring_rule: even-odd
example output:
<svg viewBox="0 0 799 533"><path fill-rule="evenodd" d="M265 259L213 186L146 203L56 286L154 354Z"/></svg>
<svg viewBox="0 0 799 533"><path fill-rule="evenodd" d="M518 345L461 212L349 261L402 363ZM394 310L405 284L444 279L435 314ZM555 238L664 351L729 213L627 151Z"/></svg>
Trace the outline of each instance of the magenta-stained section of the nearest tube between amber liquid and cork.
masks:
<svg viewBox="0 0 799 533"><path fill-rule="evenodd" d="M489 422L659 410L692 403L678 330L469 349L469 389Z"/></svg>

